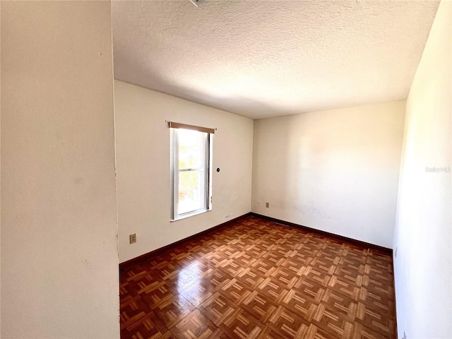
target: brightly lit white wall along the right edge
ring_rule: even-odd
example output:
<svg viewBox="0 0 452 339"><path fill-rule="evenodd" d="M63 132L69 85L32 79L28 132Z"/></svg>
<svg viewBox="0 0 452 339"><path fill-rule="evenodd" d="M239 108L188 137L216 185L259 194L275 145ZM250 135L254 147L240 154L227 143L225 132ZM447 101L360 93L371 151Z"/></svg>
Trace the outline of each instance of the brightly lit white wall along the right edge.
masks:
<svg viewBox="0 0 452 339"><path fill-rule="evenodd" d="M441 1L407 100L394 237L399 338L452 338L451 1ZM397 254L397 255L396 255Z"/></svg>

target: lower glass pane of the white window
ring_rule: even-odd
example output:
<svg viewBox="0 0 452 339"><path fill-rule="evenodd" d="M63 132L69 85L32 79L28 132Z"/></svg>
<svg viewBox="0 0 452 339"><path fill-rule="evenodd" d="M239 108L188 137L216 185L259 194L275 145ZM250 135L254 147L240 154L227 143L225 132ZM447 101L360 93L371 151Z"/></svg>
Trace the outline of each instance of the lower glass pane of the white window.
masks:
<svg viewBox="0 0 452 339"><path fill-rule="evenodd" d="M204 171L179 172L179 215L206 207Z"/></svg>

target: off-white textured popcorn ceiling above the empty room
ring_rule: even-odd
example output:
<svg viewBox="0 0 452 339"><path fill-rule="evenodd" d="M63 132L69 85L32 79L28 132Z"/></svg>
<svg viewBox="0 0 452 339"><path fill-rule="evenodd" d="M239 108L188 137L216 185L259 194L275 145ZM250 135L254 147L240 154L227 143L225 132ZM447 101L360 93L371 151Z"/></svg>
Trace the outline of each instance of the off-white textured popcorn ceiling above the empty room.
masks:
<svg viewBox="0 0 452 339"><path fill-rule="evenodd" d="M438 1L112 1L114 77L253 119L404 100Z"/></svg>

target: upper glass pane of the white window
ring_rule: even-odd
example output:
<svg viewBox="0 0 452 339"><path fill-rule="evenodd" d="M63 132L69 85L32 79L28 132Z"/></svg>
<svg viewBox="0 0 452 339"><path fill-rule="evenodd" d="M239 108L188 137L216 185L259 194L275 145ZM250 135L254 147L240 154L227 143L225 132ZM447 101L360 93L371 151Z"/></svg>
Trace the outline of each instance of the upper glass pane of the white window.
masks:
<svg viewBox="0 0 452 339"><path fill-rule="evenodd" d="M201 168L204 162L204 134L188 129L179 129L179 170Z"/></svg>

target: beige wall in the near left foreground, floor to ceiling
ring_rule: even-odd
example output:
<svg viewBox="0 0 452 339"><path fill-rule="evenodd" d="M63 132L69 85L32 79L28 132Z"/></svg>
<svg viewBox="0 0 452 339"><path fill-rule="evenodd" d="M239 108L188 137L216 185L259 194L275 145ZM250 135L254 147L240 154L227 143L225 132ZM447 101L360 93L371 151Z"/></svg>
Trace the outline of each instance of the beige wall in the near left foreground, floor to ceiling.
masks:
<svg viewBox="0 0 452 339"><path fill-rule="evenodd" d="M2 338L119 338L110 21L2 1Z"/></svg>

